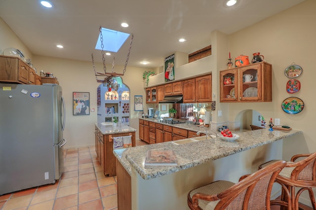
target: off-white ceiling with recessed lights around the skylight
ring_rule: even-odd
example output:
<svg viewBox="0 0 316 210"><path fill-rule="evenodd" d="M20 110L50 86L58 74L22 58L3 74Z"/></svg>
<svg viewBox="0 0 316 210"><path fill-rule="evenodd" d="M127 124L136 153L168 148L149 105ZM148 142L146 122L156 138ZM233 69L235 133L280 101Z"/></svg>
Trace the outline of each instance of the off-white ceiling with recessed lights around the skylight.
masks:
<svg viewBox="0 0 316 210"><path fill-rule="evenodd" d="M158 67L173 52L190 54L210 45L213 30L230 34L302 1L237 0L227 7L226 0L50 0L48 9L40 0L0 0L0 17L34 55L91 61L93 53L102 62L94 49L102 26L134 34L128 66ZM115 56L124 65L129 43L130 37L106 62Z"/></svg>

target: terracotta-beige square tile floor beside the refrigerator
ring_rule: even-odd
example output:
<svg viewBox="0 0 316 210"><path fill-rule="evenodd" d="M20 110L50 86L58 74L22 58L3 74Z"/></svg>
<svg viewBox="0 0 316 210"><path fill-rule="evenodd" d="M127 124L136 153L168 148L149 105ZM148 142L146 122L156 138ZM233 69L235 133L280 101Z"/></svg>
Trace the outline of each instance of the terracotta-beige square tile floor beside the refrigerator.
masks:
<svg viewBox="0 0 316 210"><path fill-rule="evenodd" d="M104 176L95 147L65 150L64 156L60 180L4 194L0 210L117 210L117 178Z"/></svg>

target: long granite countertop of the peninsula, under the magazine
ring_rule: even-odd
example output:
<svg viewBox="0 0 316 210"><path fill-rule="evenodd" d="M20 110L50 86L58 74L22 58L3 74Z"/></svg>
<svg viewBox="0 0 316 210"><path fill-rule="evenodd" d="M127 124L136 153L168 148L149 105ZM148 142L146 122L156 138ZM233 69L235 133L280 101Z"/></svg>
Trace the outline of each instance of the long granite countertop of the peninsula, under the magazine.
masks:
<svg viewBox="0 0 316 210"><path fill-rule="evenodd" d="M144 180L151 180L167 174L192 168L194 166L232 155L244 150L249 150L266 145L277 140L303 133L302 130L269 131L268 128L240 132L240 136L234 142L227 142L221 138L175 145L172 142L164 142L127 149L114 150L118 161L131 175L131 167ZM177 166L144 166L147 150L174 150L178 159Z"/></svg>

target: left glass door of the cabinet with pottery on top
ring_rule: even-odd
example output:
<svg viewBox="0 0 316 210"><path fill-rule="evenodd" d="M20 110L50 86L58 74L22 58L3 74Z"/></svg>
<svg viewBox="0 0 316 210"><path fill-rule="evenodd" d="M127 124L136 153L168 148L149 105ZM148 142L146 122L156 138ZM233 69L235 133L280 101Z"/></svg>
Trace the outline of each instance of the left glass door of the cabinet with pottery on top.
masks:
<svg viewBox="0 0 316 210"><path fill-rule="evenodd" d="M220 71L220 101L237 101L238 97L237 69Z"/></svg>

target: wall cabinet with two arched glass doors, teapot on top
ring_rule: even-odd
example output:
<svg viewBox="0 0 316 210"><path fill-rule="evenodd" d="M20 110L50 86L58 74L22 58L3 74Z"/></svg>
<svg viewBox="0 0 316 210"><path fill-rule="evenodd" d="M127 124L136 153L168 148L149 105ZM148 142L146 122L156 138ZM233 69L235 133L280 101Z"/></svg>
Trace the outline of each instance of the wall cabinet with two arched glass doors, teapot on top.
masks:
<svg viewBox="0 0 316 210"><path fill-rule="evenodd" d="M272 65L266 62L220 71L220 102L272 101Z"/></svg>

